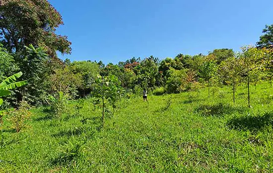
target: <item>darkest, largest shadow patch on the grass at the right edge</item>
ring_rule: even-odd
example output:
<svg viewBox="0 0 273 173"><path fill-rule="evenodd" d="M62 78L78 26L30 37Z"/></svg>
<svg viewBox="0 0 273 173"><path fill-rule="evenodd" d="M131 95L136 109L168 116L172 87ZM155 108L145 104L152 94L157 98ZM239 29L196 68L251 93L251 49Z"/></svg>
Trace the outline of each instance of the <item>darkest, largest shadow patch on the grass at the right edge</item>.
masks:
<svg viewBox="0 0 273 173"><path fill-rule="evenodd" d="M227 124L231 129L258 131L266 126L273 125L273 113L258 116L234 118Z"/></svg>

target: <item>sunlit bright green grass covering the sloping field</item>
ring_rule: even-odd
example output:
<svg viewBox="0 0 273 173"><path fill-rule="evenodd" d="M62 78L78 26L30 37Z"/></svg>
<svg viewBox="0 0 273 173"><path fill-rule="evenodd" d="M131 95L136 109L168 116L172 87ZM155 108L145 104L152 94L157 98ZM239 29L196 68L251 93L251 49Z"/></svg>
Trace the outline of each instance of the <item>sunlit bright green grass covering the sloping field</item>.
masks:
<svg viewBox="0 0 273 173"><path fill-rule="evenodd" d="M0 131L0 173L273 172L273 88L246 86L124 99L100 127L86 99L61 121L33 109L31 128Z"/></svg>

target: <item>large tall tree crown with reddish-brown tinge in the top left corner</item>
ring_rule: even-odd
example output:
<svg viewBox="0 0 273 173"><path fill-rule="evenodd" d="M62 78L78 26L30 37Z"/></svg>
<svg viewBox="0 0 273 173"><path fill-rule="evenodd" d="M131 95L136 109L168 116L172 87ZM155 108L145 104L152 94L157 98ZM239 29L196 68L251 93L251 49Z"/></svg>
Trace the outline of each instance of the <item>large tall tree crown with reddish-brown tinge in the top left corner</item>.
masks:
<svg viewBox="0 0 273 173"><path fill-rule="evenodd" d="M56 50L70 53L66 36L57 35L62 16L47 0L1 0L0 42L9 52L19 53L24 46L43 46L56 56Z"/></svg>

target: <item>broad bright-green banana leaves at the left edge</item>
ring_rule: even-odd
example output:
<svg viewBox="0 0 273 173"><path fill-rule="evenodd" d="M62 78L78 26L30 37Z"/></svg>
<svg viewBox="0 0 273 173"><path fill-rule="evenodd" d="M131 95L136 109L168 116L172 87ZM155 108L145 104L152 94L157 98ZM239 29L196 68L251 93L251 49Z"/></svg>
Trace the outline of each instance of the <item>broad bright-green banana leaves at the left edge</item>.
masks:
<svg viewBox="0 0 273 173"><path fill-rule="evenodd" d="M16 82L18 78L23 75L22 72L16 73L0 83L0 97L6 96L11 94L11 89L15 89L17 87L21 87L27 84L26 81L19 81ZM3 100L0 98L0 106L2 105Z"/></svg>

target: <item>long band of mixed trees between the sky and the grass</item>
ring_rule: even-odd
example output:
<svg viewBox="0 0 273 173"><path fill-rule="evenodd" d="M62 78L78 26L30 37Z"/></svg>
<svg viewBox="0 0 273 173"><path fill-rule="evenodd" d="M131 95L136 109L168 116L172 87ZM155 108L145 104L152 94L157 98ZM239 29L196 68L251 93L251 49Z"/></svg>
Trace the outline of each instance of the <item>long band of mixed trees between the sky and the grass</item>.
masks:
<svg viewBox="0 0 273 173"><path fill-rule="evenodd" d="M32 11L32 14L29 13ZM256 46L240 52L215 49L208 55L178 54L175 58L131 58L118 64L102 61L60 60L56 51L70 53L66 36L55 30L62 25L59 12L47 0L0 2L0 81L17 72L27 85L12 91L2 108L25 100L48 104L65 93L68 98L85 97L98 88L98 79L108 79L124 95L148 88L154 94L179 93L200 87L258 85L273 78L273 25L266 26ZM107 82L108 84L108 82ZM233 99L235 101L235 98Z"/></svg>

